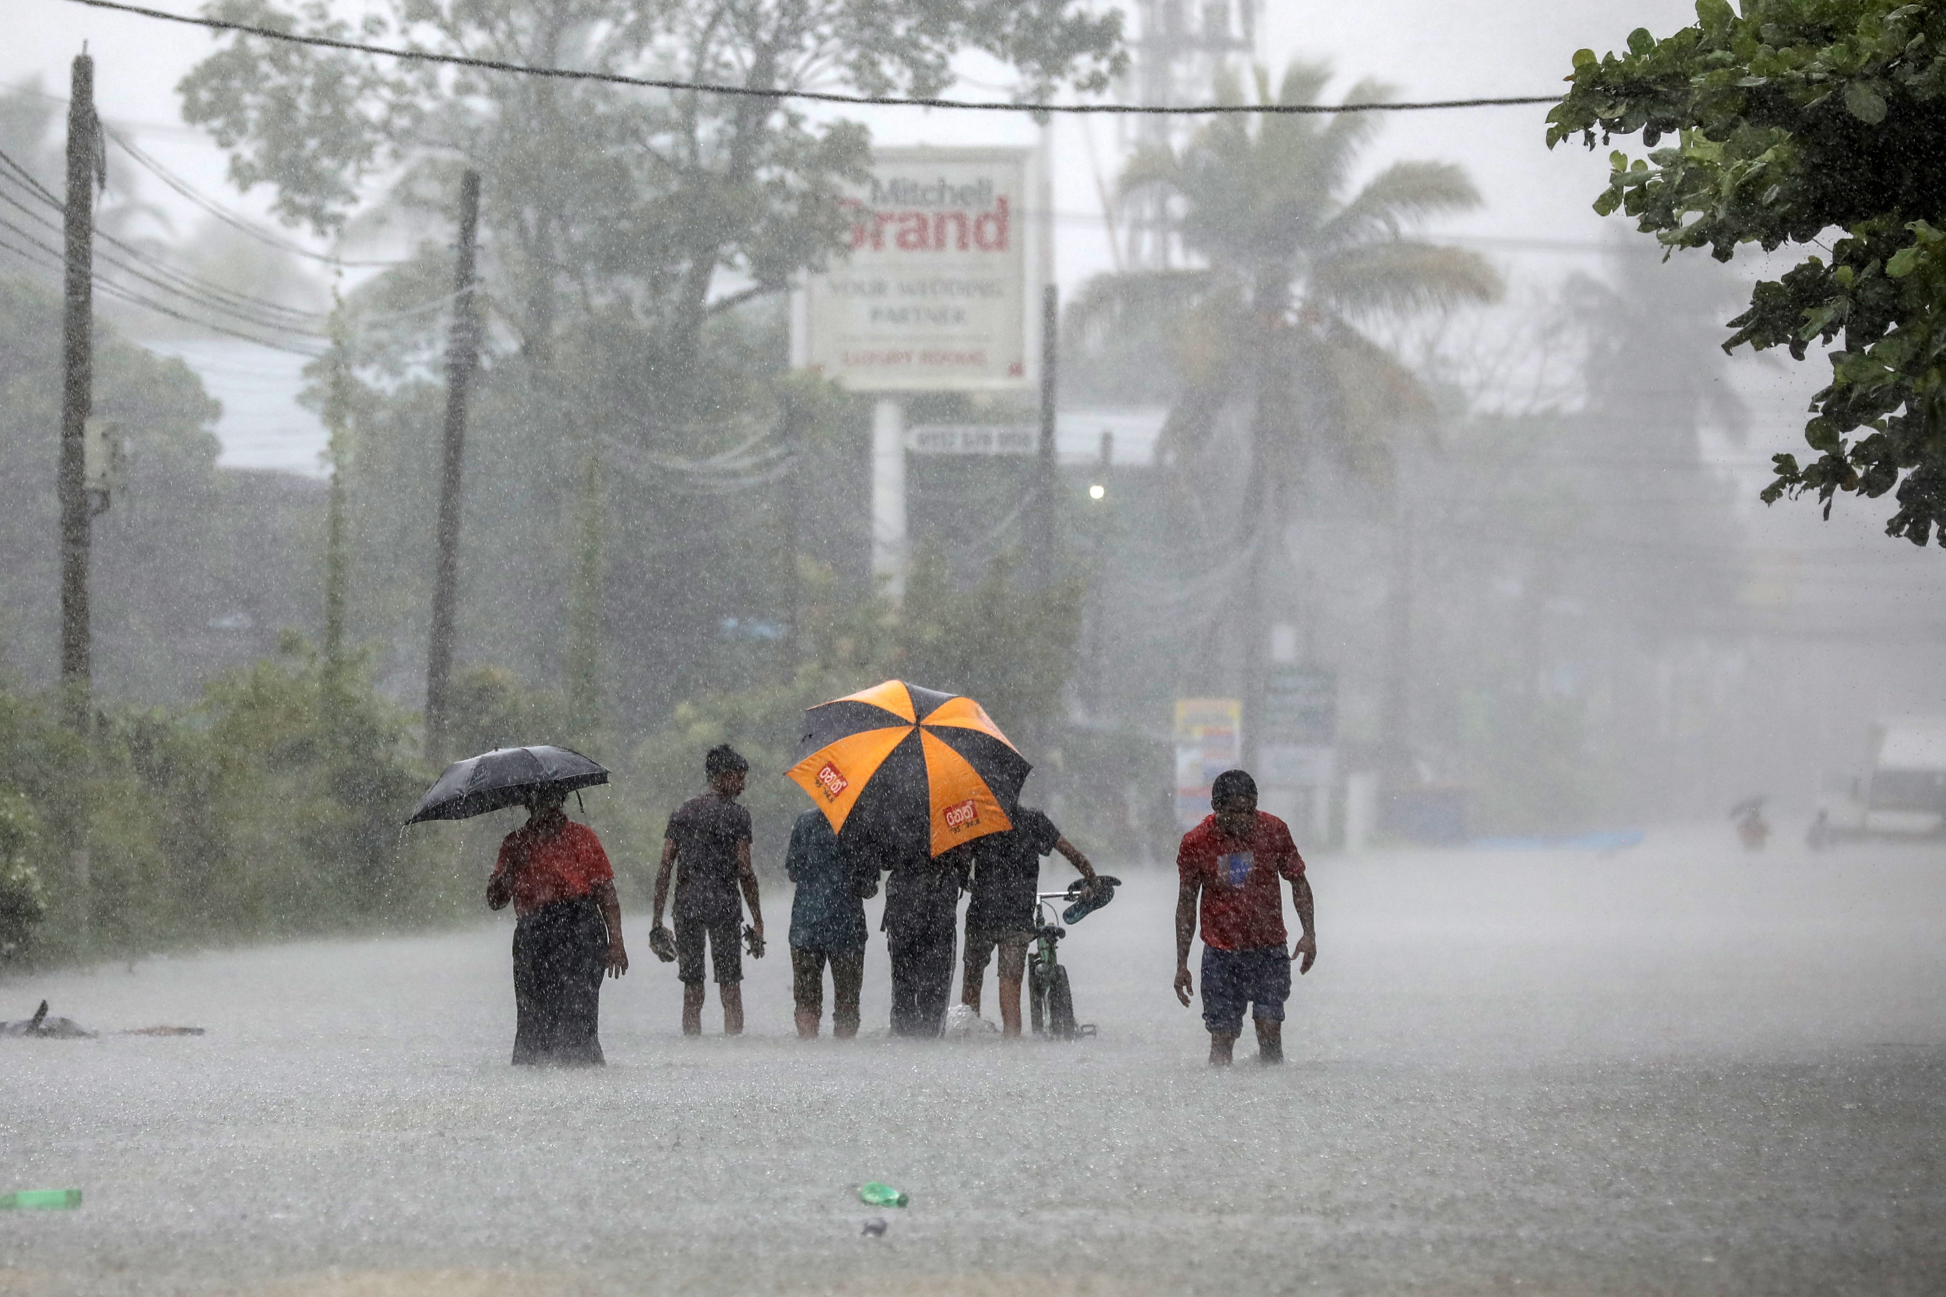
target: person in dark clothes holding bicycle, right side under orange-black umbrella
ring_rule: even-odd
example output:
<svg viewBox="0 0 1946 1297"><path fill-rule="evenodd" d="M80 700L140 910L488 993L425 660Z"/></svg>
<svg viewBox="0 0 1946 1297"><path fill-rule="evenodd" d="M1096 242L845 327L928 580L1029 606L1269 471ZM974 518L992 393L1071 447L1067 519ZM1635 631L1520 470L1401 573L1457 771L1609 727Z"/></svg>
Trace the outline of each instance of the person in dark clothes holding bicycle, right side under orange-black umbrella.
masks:
<svg viewBox="0 0 1946 1297"><path fill-rule="evenodd" d="M1020 982L1033 941L1033 904L1041 889L1041 856L1061 852L1084 879L1094 865L1033 807L1020 807L1014 826L973 844L973 898L967 902L967 941L959 964L959 1003L979 1017L987 961L1000 951L1000 1033L1020 1034Z"/></svg>

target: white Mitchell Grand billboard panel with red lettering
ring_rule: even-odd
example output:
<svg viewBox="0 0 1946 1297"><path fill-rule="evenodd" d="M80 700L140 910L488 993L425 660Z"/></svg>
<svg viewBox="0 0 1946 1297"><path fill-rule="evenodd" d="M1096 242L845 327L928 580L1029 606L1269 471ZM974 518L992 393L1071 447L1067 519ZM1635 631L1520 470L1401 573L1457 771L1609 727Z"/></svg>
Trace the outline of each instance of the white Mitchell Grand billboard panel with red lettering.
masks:
<svg viewBox="0 0 1946 1297"><path fill-rule="evenodd" d="M883 148L845 204L850 255L792 299L792 364L852 391L1039 381L1045 231L1022 148Z"/></svg>

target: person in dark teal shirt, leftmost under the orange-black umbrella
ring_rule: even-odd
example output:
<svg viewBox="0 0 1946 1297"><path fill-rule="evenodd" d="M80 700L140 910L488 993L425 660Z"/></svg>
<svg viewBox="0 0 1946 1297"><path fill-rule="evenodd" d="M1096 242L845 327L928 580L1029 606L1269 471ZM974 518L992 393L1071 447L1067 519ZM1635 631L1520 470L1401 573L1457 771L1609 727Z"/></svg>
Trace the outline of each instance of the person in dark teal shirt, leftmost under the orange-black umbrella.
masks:
<svg viewBox="0 0 1946 1297"><path fill-rule="evenodd" d="M798 889L790 900L790 994L798 1005L798 1038L817 1038L829 963L831 1034L850 1040L858 1034L864 986L864 900L878 894L878 869L854 869L825 813L806 811L790 828L784 873Z"/></svg>

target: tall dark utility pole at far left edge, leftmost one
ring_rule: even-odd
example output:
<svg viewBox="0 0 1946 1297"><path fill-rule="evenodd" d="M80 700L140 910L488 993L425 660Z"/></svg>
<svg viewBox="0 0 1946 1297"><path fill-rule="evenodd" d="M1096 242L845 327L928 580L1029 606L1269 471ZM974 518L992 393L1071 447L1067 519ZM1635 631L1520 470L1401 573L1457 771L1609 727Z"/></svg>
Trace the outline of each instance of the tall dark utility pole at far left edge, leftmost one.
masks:
<svg viewBox="0 0 1946 1297"><path fill-rule="evenodd" d="M66 282L60 319L60 694L68 725L88 735L88 414L93 406L93 235L95 177L101 171L95 121L95 60L80 54L68 91Z"/></svg>

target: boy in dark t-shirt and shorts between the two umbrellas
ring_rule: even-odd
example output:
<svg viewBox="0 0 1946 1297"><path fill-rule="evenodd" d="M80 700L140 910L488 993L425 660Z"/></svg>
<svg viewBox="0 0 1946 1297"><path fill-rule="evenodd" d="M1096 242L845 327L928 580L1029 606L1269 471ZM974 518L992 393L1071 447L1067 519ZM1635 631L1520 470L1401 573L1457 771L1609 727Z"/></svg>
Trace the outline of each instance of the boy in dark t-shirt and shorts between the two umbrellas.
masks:
<svg viewBox="0 0 1946 1297"><path fill-rule="evenodd" d="M743 1033L743 900L749 902L757 949L763 949L763 910L757 871L749 863L749 811L736 803L749 762L728 743L703 758L710 788L669 817L656 871L656 918L662 928L675 873L675 974L683 980L683 1034L703 1034L704 943L716 996L724 1005L724 1034ZM743 896L738 898L741 889Z"/></svg>

